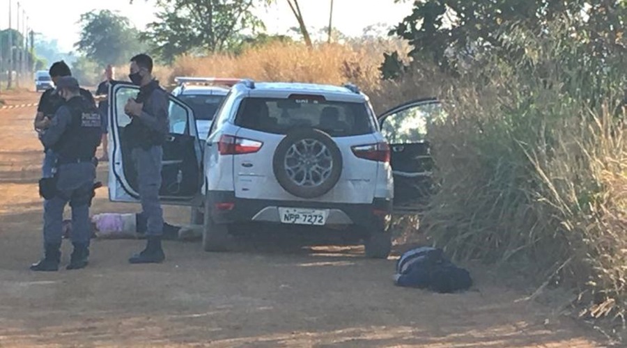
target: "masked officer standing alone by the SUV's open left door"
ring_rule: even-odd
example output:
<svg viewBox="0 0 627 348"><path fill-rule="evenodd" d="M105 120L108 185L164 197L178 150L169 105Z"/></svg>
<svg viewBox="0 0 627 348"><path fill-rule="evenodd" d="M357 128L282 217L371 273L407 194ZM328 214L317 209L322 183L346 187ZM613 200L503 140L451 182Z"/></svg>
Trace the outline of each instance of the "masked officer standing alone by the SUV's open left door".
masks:
<svg viewBox="0 0 627 348"><path fill-rule="evenodd" d="M161 246L164 221L159 190L162 145L169 133L169 98L152 72L153 59L150 56L138 54L131 58L129 78L140 88L137 98L128 100L125 105L124 111L132 120L125 127L123 136L132 149L141 207L148 218L146 248L129 259L132 264L159 263L165 259Z"/></svg>

